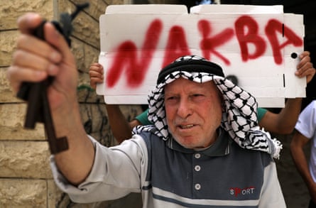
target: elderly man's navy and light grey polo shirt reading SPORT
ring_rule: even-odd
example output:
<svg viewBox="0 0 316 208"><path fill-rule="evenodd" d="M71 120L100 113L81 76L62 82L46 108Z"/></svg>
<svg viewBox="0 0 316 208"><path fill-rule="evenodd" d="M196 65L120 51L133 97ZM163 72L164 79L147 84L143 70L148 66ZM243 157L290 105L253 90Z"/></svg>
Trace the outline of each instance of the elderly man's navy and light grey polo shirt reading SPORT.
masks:
<svg viewBox="0 0 316 208"><path fill-rule="evenodd" d="M285 207L271 155L240 148L221 131L204 150L183 148L150 132L107 148L94 141L91 173L78 187L51 160L55 182L75 202L141 192L143 207Z"/></svg>

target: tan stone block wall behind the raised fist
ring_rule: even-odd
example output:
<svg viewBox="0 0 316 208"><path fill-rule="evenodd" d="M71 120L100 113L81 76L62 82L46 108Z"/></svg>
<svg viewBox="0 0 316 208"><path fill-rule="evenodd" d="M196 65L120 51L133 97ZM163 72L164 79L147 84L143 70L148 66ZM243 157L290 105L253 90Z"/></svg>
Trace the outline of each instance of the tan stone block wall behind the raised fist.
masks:
<svg viewBox="0 0 316 208"><path fill-rule="evenodd" d="M50 152L43 124L35 130L23 128L26 104L17 99L6 80L12 51L18 36L16 20L28 11L40 13L48 20L61 12L72 12L80 0L1 0L0 3L0 207L139 207L139 195L97 204L75 204L55 186L50 172ZM77 58L80 82L77 87L82 122L86 131L106 146L116 141L111 134L103 97L89 87L89 65L99 55L99 16L109 4L124 0L90 0L90 6L73 22L72 51ZM125 3L128 3L127 1ZM121 106L127 119L141 112L140 106Z"/></svg>

